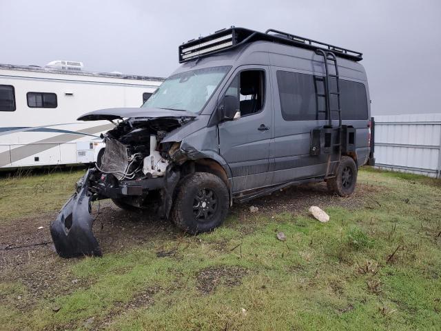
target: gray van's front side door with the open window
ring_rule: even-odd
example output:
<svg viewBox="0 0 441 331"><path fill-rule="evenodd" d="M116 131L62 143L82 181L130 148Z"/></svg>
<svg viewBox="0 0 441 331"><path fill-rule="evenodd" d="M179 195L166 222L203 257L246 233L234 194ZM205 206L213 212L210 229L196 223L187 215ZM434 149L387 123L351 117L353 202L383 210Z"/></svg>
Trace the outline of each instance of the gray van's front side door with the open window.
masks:
<svg viewBox="0 0 441 331"><path fill-rule="evenodd" d="M241 66L220 94L240 99L240 119L218 124L219 152L233 176L233 192L269 183L269 142L273 130L267 66Z"/></svg>

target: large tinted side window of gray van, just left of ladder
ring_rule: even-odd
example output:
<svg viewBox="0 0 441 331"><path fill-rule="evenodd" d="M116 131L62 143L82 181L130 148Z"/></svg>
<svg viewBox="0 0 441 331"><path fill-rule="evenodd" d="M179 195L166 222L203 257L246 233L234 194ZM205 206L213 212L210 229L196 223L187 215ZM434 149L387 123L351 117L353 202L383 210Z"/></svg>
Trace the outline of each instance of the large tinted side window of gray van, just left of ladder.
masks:
<svg viewBox="0 0 441 331"><path fill-rule="evenodd" d="M326 119L324 79L298 72L277 72L280 108L285 121Z"/></svg>

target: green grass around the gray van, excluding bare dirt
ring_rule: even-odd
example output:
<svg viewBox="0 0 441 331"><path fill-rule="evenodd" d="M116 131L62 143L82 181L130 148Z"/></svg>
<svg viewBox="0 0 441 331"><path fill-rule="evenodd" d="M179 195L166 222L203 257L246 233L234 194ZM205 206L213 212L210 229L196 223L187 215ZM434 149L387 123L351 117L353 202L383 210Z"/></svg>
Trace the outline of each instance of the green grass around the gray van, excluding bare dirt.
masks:
<svg viewBox="0 0 441 331"><path fill-rule="evenodd" d="M79 174L52 176L68 186ZM13 300L25 299L28 289L19 280L1 283L0 325L6 330L440 330L441 186L372 170L361 170L359 181L380 188L369 193L378 203L327 208L329 223L306 211L247 221L230 216L209 234L152 240L65 265L59 259L61 271L88 285L39 298L23 313ZM1 192L14 201L19 188L32 190L42 182L48 185L46 177L2 182ZM42 192L39 201L56 195ZM25 216L21 212L29 209L11 208L9 218ZM278 231L286 234L285 242L276 239ZM176 254L156 257L160 250ZM238 267L245 270L240 281L228 285L228 277L219 277L212 292L201 292L201 272ZM127 306L146 291L152 301ZM52 311L54 305L61 309Z"/></svg>

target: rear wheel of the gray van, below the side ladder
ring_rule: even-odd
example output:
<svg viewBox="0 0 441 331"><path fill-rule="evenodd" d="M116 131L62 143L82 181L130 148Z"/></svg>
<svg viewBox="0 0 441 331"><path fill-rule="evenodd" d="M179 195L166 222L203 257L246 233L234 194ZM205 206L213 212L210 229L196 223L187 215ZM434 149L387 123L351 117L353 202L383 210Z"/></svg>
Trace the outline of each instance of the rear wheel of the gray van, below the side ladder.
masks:
<svg viewBox="0 0 441 331"><path fill-rule="evenodd" d="M357 165L351 157L342 157L336 170L336 177L327 179L329 190L340 195L340 197L349 197L356 188L357 183Z"/></svg>

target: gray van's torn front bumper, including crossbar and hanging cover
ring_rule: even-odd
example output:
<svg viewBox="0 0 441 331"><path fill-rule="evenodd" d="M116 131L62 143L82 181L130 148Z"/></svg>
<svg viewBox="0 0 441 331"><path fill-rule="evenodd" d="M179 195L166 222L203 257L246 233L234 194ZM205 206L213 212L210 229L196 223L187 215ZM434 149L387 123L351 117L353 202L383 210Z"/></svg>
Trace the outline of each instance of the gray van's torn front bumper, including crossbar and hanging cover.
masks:
<svg viewBox="0 0 441 331"><path fill-rule="evenodd" d="M174 188L181 177L178 170L170 170L164 177L118 181L96 169L88 170L77 183L76 192L61 208L57 219L50 224L50 234L55 249L61 257L83 255L101 256L99 243L92 232L91 201L138 197L143 201L150 190L160 190L158 216L167 218L172 208ZM136 199L132 199L136 200Z"/></svg>

